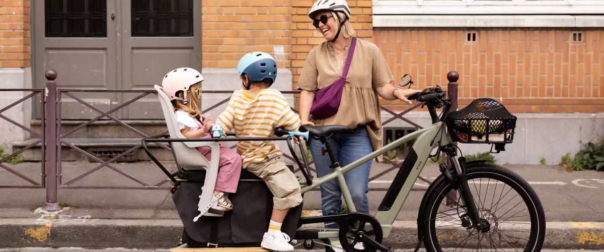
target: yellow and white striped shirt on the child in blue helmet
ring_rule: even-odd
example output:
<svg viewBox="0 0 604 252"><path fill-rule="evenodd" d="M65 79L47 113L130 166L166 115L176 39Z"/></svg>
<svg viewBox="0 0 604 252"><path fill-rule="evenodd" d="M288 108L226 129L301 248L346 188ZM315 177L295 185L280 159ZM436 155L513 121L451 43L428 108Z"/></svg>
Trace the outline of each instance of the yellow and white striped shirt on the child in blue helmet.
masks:
<svg viewBox="0 0 604 252"><path fill-rule="evenodd" d="M235 131L237 137L274 137L275 128L287 131L300 128L300 118L275 89L263 89L256 97L249 96L246 90L233 92L216 122L225 132ZM272 153L283 154L274 141L243 141L237 143L237 153L242 156L243 167L260 163Z"/></svg>

